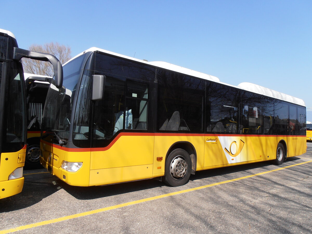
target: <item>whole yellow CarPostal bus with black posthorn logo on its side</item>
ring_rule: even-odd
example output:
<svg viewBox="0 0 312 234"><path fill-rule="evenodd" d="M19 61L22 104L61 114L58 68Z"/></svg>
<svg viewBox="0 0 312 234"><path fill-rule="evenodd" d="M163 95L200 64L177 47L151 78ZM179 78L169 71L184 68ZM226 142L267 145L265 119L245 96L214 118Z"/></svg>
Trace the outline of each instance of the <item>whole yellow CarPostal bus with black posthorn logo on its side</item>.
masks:
<svg viewBox="0 0 312 234"><path fill-rule="evenodd" d="M40 161L70 185L180 186L196 171L306 151L301 99L94 47L63 70L47 94Z"/></svg>

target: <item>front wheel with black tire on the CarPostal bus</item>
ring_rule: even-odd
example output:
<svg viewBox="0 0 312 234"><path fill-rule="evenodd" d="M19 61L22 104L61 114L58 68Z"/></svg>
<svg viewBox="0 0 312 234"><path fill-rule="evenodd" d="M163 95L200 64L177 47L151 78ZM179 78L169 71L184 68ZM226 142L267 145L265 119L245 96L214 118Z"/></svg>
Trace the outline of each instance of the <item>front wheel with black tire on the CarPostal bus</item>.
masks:
<svg viewBox="0 0 312 234"><path fill-rule="evenodd" d="M189 181L191 170L192 160L188 152L184 149L175 149L166 160L164 182L173 187L186 184Z"/></svg>

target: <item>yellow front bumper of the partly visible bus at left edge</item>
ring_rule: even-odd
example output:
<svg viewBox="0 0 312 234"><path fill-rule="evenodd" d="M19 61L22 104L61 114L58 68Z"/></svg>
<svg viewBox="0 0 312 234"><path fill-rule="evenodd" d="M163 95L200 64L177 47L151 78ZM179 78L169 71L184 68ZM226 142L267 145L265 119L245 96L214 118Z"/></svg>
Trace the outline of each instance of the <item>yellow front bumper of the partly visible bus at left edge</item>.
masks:
<svg viewBox="0 0 312 234"><path fill-rule="evenodd" d="M7 181L0 181L0 199L22 192L24 177Z"/></svg>

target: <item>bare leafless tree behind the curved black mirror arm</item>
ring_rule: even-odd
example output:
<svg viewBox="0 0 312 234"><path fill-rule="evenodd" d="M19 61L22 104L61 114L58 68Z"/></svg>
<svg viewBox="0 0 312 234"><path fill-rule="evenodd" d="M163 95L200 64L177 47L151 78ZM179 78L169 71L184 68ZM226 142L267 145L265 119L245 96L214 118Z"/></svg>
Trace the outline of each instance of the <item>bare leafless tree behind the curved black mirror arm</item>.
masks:
<svg viewBox="0 0 312 234"><path fill-rule="evenodd" d="M29 46L28 50L48 53L56 56L64 64L71 58L71 47L60 45L58 42L50 42L42 45L33 44ZM42 75L42 76L53 76L53 67L51 63L45 61L38 61L33 59L22 59L24 72Z"/></svg>

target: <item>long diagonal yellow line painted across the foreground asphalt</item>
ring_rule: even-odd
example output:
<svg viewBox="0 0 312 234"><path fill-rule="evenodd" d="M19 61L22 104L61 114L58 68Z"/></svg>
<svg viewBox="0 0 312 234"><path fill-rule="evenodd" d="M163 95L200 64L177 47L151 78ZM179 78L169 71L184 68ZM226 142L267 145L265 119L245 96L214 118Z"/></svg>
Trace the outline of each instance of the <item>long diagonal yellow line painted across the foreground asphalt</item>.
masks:
<svg viewBox="0 0 312 234"><path fill-rule="evenodd" d="M120 207L126 207L126 206L130 206L130 205L134 205L134 204L139 204L139 203L142 203L142 202L148 202L148 201L156 200L156 199L163 198L163 197L170 197L170 196L177 195L177 194L187 193L187 192L199 190L199 189L202 189L202 188L209 188L209 187L212 187L212 186L225 184L225 183L229 183L229 182L233 182L233 181L237 181L237 180L242 180L242 179L246 179L246 178L251 178L251 177L254 177L254 176L264 175L266 173L271 173L271 172L279 171L279 170L282 170L282 169L285 169L285 168L295 167L295 166L302 165L302 164L305 164L305 163L310 163L310 162L312 162L312 160L306 161L306 162L303 162L303 163L297 163L297 164L286 166L286 167L282 167L282 168L277 168L277 169L270 170L270 171L256 173L256 174L253 174L253 175L243 176L243 177L240 177L240 178L235 178L235 179L226 180L226 181L213 183L213 184L207 184L207 185L199 186L199 187L196 187L196 188L189 188L189 189L185 189L185 190L174 192L174 193L167 193L167 194L158 195L158 196L155 196L155 197L149 197L149 198L145 198L145 199L141 199L141 200L137 200L137 201L133 201L133 202L126 202L126 203L115 205L115 206L110 206L110 207L105 207L105 208L96 209L96 210L92 210L92 211L82 212L82 213L79 213L79 214L68 215L68 216L64 216L64 217L61 217L61 218L50 219L50 220L47 220L47 221L27 224L27 225L20 226L20 227L15 227L15 228L7 229L7 230L2 230L2 231L0 231L0 234L6 234L6 233L10 233L10 232L21 231L21 230L25 230L25 229L32 228L32 227L39 227L39 226L43 226L43 225L46 225L46 224L56 223L56 222L69 220L69 219L73 219L73 218L78 218L78 217L82 217L82 216L86 216L86 215L90 215L90 214L96 214L96 213L99 213L99 212L113 210L113 209L117 209L117 208L120 208Z"/></svg>

